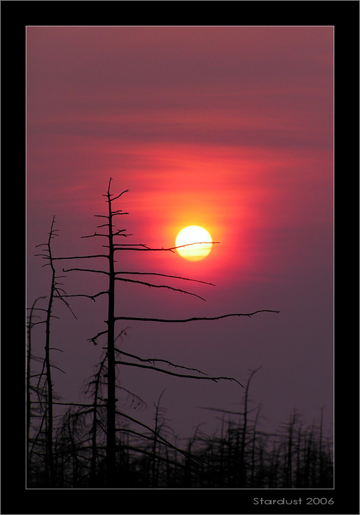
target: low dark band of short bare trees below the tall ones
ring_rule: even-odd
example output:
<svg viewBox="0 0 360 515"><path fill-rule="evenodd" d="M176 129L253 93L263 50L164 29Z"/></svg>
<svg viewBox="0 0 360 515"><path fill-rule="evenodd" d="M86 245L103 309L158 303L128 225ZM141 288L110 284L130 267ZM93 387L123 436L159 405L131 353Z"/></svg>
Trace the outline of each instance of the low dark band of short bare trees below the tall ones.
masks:
<svg viewBox="0 0 360 515"><path fill-rule="evenodd" d="M89 402L66 406L58 417L52 453L56 488L107 487L106 372L104 355L86 383ZM123 407L115 414L115 488L333 488L332 440L323 432L322 414L319 423L304 426L294 410L277 431L267 432L260 406L249 405L249 384L242 409L205 407L216 412L219 428L213 434L197 428L187 439L180 439L171 427L161 396L153 404L153 424L146 425L137 419L138 411L147 409L143 400L119 386ZM51 487L47 432L46 427L41 431L41 420L39 414L30 439L29 488Z"/></svg>

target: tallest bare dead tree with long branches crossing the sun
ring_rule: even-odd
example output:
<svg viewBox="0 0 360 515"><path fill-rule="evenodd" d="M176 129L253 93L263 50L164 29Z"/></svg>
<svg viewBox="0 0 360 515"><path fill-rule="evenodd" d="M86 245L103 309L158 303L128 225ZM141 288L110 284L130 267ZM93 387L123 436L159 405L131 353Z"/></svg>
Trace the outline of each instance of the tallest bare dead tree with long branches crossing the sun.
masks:
<svg viewBox="0 0 360 515"><path fill-rule="evenodd" d="M183 290L182 288L175 288L171 287L170 285L163 284L163 285L156 285L152 282L144 281L140 278L135 278L138 276L160 276L160 277L167 277L167 278L175 278L178 280L186 280L186 281L193 281L193 282L203 282L203 281L197 281L197 280L191 280L187 277L178 277L174 275L165 275L155 272L145 273L145 272L127 272L127 271L115 271L115 253L118 252L170 252L173 253L176 248L178 247L171 247L171 248L150 248L148 245L144 245L143 243L136 243L136 244L128 244L128 243L118 243L118 238L127 238L129 235L126 233L125 229L116 229L114 219L117 216L120 215L127 215L128 213L123 212L123 210L120 209L114 209L113 203L115 200L118 200L124 193L127 193L128 190L123 191L120 193L120 195L113 195L110 193L110 185L111 185L110 178L108 183L108 191L106 195L103 195L106 197L106 203L108 204L108 213L106 215L95 215L98 218L104 218L105 223L98 225L98 229L105 228L104 232L96 232L93 235L83 236L82 238L93 238L93 237L100 237L100 238L106 238L108 245L103 245L104 248L108 249L108 253L106 254L94 254L94 255L83 255L83 256L71 256L71 257L53 257L52 260L81 260L81 259L96 259L96 258L103 258L106 259L108 262L108 267L106 270L96 270L96 269L90 269L90 268L80 268L80 267L74 267L74 268L68 268L63 269L64 272L71 272L71 271L81 271L81 272L90 272L90 273L96 273L96 274L102 274L106 275L108 277L108 289L103 290L101 292L96 293L95 295L66 295L66 297L88 297L91 300L95 301L96 298L100 295L107 295L108 297L108 318L106 320L106 329L102 330L101 332L98 332L98 334L94 337L91 337L88 339L88 341L93 342L94 345L98 344L98 339L103 336L107 335L107 347L106 347L106 356L107 356L107 399L106 399L106 406L107 406L107 428L106 428L106 476L107 476L107 486L115 486L115 433L117 428L115 427L115 419L116 419L116 402L118 399L116 399L115 396L115 366L117 364L123 365L123 366L131 366L131 367L140 367L140 368L146 368L146 369L153 369L154 371L161 372L164 374L170 374L175 377L187 377L192 379L207 379L211 381L219 381L219 380L230 380L235 381L238 384L240 384L236 379L232 377L208 377L203 372L200 372L199 370L190 369L187 367L182 367L182 369L186 369L187 373L180 373L175 372L173 369L165 369L163 366L155 366L155 362L158 364L163 365L165 360L155 360L150 358L141 358L135 355L128 355L128 357L131 357L133 361L124 361L124 360L116 360L115 355L119 353L119 350L116 350L115 347L115 322L118 322L119 320L133 320L133 321L142 321L142 322L162 322L162 323L185 323L185 322L192 322L197 320L220 320L225 317L251 317L252 315L255 315L258 312L278 312L274 310L257 310L252 313L232 313L227 315L220 315L217 317L192 317L190 319L185 320L169 320L169 319L163 319L163 318L146 318L146 317L121 317L115 315L115 282L130 282L135 283L139 285L145 285L147 287L157 287L157 288L166 288L168 290L173 290L175 292L181 292L186 295L193 295L195 297L200 297L200 295L196 295L193 292L189 292L187 290ZM212 243L215 244L217 242L199 242L199 243ZM195 245L194 243L189 245ZM187 246L187 245L181 245ZM131 275L132 277L129 277ZM204 283L204 282L203 282ZM207 285L211 285L210 282L205 282ZM202 299L204 300L204 299ZM125 355L125 353L120 352L120 354ZM178 367L178 365L165 362L170 367ZM188 372L195 372L194 373L188 373ZM242 385L241 385L242 386Z"/></svg>

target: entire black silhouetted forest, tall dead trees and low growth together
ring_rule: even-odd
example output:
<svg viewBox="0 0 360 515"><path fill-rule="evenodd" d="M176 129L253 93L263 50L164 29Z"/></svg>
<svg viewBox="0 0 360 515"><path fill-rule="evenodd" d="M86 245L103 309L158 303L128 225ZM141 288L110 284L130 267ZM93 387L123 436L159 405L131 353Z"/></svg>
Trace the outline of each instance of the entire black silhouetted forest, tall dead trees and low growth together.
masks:
<svg viewBox="0 0 360 515"><path fill-rule="evenodd" d="M251 317L260 312L279 313L277 310L257 310L250 313L230 313L217 317L191 317L163 319L123 317L116 312L115 285L130 282L146 287L165 288L185 295L195 295L182 287L158 285L144 280L144 276L157 275L163 280L172 278L181 282L203 282L160 273L120 272L115 270L115 255L119 252L174 252L172 248L149 248L144 244L120 243L130 236L115 226L118 216L128 215L115 209L113 203L120 195L110 193L108 183L106 215L93 235L82 238L101 238L107 253L78 256L54 256L52 240L58 235L55 217L51 223L48 241L38 245L38 257L51 269L48 292L38 297L28 310L28 340L26 358L26 484L28 488L59 489L292 489L333 488L332 442L323 429L323 411L317 424L304 427L296 410L289 420L275 432L262 428L259 405L250 406L250 383L259 369L251 370L247 383L242 385L234 377L208 376L192 367L152 357L140 357L123 350L126 329L118 329L123 321L159 323L189 323L197 320L219 320L225 317ZM106 267L63 267L58 262L95 260ZM103 261L102 261L103 260ZM68 272L101 274L108 280L104 290L86 295L78 292L67 295L63 277ZM211 284L211 283L205 283ZM46 296L45 296L46 295ZM53 353L62 352L52 347L51 320L56 303L64 305L76 317L71 297L84 297L85 302L107 299L106 328L88 338L89 344L103 345L100 361L95 364L83 393L87 402L60 402L53 384ZM200 297L201 298L201 297ZM41 306L41 307L40 307ZM44 307L43 307L44 306ZM44 353L34 353L34 328L44 327ZM36 335L38 331L36 331ZM36 336L38 337L38 336ZM35 345L38 348L38 345ZM239 410L202 407L215 412L219 427L213 434L199 428L191 437L180 439L172 429L163 405L163 394L153 403L153 425L140 422L137 414L147 409L145 402L120 384L120 368L136 367L154 372L201 381L234 382L243 390L243 403ZM66 372L66 371L63 371ZM196 383L196 381L195 381ZM195 386L196 387L196 384ZM60 410L60 412L58 411ZM56 415L55 415L56 412ZM132 415L130 416L130 413ZM60 415L59 415L60 413Z"/></svg>

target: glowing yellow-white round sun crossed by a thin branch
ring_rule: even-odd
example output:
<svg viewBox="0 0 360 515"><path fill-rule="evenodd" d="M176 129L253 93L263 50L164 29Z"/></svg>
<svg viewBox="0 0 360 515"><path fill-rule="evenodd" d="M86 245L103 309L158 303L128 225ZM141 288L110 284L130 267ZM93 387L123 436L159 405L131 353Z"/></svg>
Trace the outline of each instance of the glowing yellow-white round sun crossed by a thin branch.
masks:
<svg viewBox="0 0 360 515"><path fill-rule="evenodd" d="M181 257L189 261L200 261L210 254L212 238L206 229L199 225L189 225L180 230L175 245ZM189 245L189 243L194 245ZM182 245L187 245L182 247Z"/></svg>

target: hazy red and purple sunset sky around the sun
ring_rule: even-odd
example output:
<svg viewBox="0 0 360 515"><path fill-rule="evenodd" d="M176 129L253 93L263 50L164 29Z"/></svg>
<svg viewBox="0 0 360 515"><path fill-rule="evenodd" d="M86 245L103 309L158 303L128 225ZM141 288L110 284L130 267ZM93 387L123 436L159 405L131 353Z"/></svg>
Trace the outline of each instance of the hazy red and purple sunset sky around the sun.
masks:
<svg viewBox="0 0 360 515"><path fill-rule="evenodd" d="M333 407L334 28L332 26L28 26L28 306L48 295L49 270L35 257L56 216L57 256L101 253L93 234L112 193L126 243L175 245L187 225L214 241L200 261L178 253L118 253L118 270L159 272L216 286L170 284L180 292L118 287L115 312L129 317L215 317L187 325L118 322L122 348L211 375L252 381L264 428L304 424ZM121 242L123 243L123 241ZM106 262L86 262L101 269ZM74 262L58 262L58 273ZM76 265L83 267L84 262ZM68 272L68 294L94 294L103 277ZM39 304L40 305L40 304ZM43 307L46 306L42 305ZM106 303L71 300L53 321L55 389L76 402L102 347L88 342L106 325ZM40 327L40 326L39 326ZM42 332L36 332L38 354ZM34 335L35 338L35 335ZM34 344L35 345L35 344ZM134 372L135 370L135 372ZM197 407L234 409L235 383L169 378L120 367L120 381L148 404L162 404L182 437L217 426Z"/></svg>

